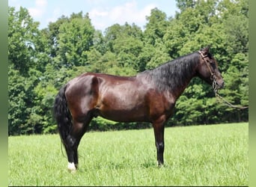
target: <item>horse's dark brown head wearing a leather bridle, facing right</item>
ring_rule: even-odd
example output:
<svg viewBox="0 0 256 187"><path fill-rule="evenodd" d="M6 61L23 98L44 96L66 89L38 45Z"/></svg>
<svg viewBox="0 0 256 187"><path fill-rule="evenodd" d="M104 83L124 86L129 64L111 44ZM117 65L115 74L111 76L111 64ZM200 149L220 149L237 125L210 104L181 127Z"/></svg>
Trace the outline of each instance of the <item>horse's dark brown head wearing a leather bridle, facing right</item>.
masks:
<svg viewBox="0 0 256 187"><path fill-rule="evenodd" d="M213 84L214 91L224 87L222 74L219 72L218 63L209 52L209 47L201 49L198 76L209 84Z"/></svg>

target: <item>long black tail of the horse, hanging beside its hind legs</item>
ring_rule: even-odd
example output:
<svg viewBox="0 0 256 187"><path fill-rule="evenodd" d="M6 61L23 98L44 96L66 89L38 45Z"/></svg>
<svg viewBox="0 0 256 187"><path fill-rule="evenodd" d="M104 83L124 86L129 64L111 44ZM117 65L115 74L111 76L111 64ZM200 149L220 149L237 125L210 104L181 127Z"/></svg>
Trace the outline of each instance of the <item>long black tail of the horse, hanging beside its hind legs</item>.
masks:
<svg viewBox="0 0 256 187"><path fill-rule="evenodd" d="M67 99L65 96L66 88L67 85L60 89L55 98L55 103L53 106L54 117L58 124L58 132L65 147L67 144L67 137L70 135L70 130L72 127L71 114L67 106Z"/></svg>

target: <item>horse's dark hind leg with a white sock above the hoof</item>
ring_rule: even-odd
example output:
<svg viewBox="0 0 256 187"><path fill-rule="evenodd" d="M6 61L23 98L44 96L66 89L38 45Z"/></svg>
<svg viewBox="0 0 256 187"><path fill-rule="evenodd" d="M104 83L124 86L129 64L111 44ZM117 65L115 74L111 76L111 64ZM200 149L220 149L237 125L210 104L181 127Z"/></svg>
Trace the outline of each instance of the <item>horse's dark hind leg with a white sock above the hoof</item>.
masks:
<svg viewBox="0 0 256 187"><path fill-rule="evenodd" d="M80 140L85 134L91 119L92 117L88 116L84 122L77 122L76 120L73 120L73 126L70 131L70 135L67 136L67 142L65 144L68 160L67 169L69 171L76 171L78 168L79 159L77 150Z"/></svg>

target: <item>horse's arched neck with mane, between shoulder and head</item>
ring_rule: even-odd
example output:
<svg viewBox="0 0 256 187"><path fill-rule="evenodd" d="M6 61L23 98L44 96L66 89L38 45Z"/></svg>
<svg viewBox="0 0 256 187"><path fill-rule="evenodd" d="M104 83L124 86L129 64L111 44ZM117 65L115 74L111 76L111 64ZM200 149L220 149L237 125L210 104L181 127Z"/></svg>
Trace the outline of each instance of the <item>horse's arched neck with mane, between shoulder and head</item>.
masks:
<svg viewBox="0 0 256 187"><path fill-rule="evenodd" d="M160 92L168 92L176 99L196 75L198 63L198 54L190 54L156 67L156 69L138 73L137 77L140 82Z"/></svg>

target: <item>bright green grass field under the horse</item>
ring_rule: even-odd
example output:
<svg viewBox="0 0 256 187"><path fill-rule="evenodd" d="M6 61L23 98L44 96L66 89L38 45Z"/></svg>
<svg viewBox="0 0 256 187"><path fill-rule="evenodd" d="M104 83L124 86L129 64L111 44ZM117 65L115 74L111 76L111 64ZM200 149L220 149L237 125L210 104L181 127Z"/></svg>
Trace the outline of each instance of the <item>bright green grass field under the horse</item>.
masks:
<svg viewBox="0 0 256 187"><path fill-rule="evenodd" d="M248 128L248 123L165 128L162 168L156 166L153 129L88 132L75 174L67 171L58 135L9 137L8 185L248 186Z"/></svg>

